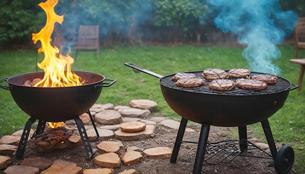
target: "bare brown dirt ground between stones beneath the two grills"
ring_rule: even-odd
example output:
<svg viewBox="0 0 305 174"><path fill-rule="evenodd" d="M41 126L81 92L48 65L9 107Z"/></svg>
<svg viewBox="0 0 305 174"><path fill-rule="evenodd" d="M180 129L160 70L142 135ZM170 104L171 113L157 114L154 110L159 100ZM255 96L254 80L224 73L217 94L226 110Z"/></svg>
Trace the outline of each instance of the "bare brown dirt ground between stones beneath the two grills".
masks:
<svg viewBox="0 0 305 174"><path fill-rule="evenodd" d="M189 124L188 124L189 125ZM185 132L184 141L198 141L200 134L200 127L191 126L195 132ZM209 142L218 142L222 140L232 139L228 136L230 131L238 131L237 128L232 127L215 127L211 126L209 134ZM164 131L156 127L154 137L150 139L122 141L124 148L121 149L120 154L126 152L126 148L130 146L136 146L141 150L145 150L152 147L171 147L173 148L176 139L177 131ZM251 132L248 133L248 139L251 138ZM101 140L91 142L91 146L95 152L95 156L100 155L96 150L96 145ZM195 161L197 150L197 144L184 142L182 143L176 163L171 163L169 158L165 159L151 159L143 156L142 161L124 166L121 162L120 167L114 168L114 174L122 172L128 169L135 169L139 174L191 174L193 171L193 165ZM260 153L260 152L259 152ZM260 153L266 156L265 153ZM90 168L100 168L94 164L94 159L88 160L85 149L83 146L79 146L75 149L60 149L52 150L51 152L40 153L34 147L33 141L28 141L24 158L28 157L45 157L51 160L63 159L66 161L74 162L77 166L83 170ZM93 158L94 158L93 157ZM206 155L207 157L207 155ZM18 161L13 158L13 163ZM215 158L215 157L214 157ZM212 158L214 160L214 158ZM226 159L227 160L227 159ZM225 161L226 161L225 160ZM230 162L220 162L216 165L205 164L202 167L202 174L276 174L274 167L269 167L272 160L258 157L241 157L238 156ZM3 170L0 170L2 173ZM292 169L289 174L295 174Z"/></svg>

